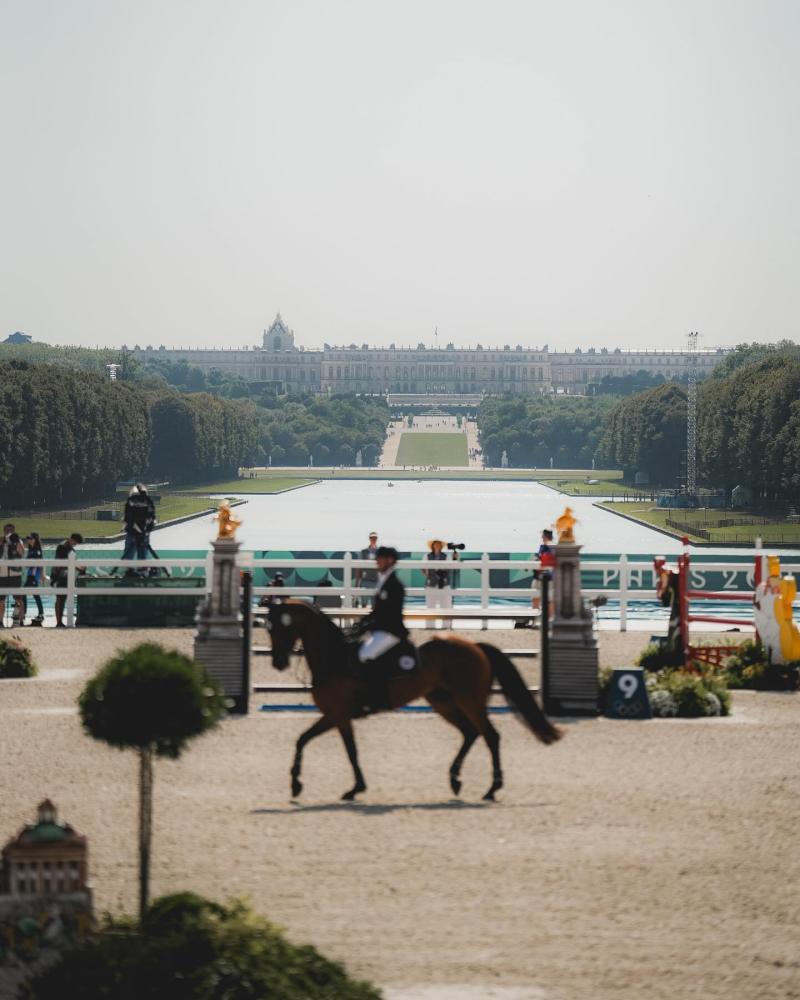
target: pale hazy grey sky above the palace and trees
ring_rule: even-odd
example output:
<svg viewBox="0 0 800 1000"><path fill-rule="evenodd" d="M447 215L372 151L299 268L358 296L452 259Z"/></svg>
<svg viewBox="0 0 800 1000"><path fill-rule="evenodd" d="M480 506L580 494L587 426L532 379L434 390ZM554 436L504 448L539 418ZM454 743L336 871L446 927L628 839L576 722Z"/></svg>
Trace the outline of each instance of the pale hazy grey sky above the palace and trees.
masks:
<svg viewBox="0 0 800 1000"><path fill-rule="evenodd" d="M798 0L0 0L0 339L798 339Z"/></svg>

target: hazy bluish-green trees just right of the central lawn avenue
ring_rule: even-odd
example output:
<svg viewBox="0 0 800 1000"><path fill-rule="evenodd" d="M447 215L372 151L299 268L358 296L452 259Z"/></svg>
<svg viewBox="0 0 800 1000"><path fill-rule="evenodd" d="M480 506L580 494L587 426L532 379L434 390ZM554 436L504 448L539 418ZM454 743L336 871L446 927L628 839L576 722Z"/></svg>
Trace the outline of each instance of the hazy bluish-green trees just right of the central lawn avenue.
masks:
<svg viewBox="0 0 800 1000"><path fill-rule="evenodd" d="M597 452L603 420L614 406L608 396L488 396L478 410L478 429L486 464L589 469Z"/></svg>

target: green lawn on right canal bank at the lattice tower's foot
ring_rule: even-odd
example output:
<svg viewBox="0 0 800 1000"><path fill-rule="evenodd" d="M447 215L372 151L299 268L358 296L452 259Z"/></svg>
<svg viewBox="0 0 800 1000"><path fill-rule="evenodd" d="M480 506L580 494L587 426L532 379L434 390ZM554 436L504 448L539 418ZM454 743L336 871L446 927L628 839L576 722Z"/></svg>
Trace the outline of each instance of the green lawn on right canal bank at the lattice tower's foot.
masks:
<svg viewBox="0 0 800 1000"><path fill-rule="evenodd" d="M600 506L609 510L622 512L643 524L663 528L670 534L680 538L686 535L689 541L700 545L752 544L756 538L763 539L769 545L800 545L800 524L788 521L770 520L766 524L748 523L754 519L761 520L761 515L731 510L668 510L654 507L652 504L613 503L607 502ZM689 528L673 528L667 525L667 519L678 521L683 525L696 527L703 534L697 534ZM734 524L724 528L714 525L717 521L733 521Z"/></svg>

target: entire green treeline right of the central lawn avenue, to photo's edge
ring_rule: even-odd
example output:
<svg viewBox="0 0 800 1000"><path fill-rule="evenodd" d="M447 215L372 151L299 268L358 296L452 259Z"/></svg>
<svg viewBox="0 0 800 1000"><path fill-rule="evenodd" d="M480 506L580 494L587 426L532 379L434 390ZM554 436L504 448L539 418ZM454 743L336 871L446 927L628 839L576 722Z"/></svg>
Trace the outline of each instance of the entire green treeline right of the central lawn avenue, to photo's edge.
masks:
<svg viewBox="0 0 800 1000"><path fill-rule="evenodd" d="M678 488L686 476L686 387L632 396L487 398L478 426L487 464L622 469ZM800 347L742 344L697 387L700 485L752 491L763 503L800 496Z"/></svg>

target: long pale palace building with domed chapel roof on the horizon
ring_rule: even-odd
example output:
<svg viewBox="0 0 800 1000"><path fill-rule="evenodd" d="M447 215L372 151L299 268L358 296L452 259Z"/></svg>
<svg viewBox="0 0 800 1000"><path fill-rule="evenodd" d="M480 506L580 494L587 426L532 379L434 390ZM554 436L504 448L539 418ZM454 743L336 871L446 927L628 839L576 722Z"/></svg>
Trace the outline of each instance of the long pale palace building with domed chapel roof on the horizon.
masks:
<svg viewBox="0 0 800 1000"><path fill-rule="evenodd" d="M214 370L263 383L279 393L411 393L436 395L537 393L583 394L587 385L605 375L638 371L662 374L666 379L687 374L692 360L698 377L708 375L725 351L639 350L591 347L581 351L551 351L543 347L444 348L370 347L348 344L320 348L298 347L294 331L281 319L264 331L255 347L144 349L135 347L142 361L185 361L206 373Z"/></svg>

